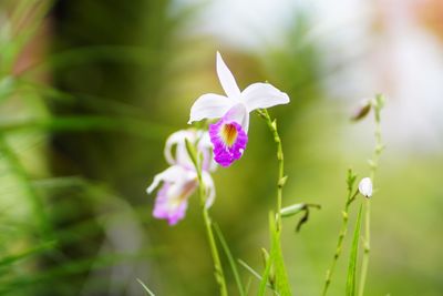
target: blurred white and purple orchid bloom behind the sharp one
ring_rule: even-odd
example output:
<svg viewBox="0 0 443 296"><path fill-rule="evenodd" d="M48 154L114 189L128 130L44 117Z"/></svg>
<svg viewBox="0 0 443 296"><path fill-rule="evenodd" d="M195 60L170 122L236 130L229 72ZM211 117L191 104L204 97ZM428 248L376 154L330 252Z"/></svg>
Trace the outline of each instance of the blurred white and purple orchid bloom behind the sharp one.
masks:
<svg viewBox="0 0 443 296"><path fill-rule="evenodd" d="M212 157L208 133L196 130L173 133L166 140L164 151L171 166L155 175L153 183L146 190L151 194L163 182L157 192L153 215L156 218L167 220L169 225L175 225L185 217L188 198L198 186L197 172L186 150L186 139L196 144L203 154L202 177L206 188L206 207L209 207L215 198L215 186L209 172L216 169L216 164Z"/></svg>

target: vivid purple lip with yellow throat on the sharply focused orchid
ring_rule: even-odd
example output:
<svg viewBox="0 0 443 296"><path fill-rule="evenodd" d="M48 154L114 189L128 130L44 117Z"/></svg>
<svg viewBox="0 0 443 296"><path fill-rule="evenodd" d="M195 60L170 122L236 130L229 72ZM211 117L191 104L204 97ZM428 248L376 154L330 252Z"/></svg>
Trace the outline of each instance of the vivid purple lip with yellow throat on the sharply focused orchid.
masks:
<svg viewBox="0 0 443 296"><path fill-rule="evenodd" d="M214 160L225 167L241 157L248 143L248 135L241 125L225 119L209 125L209 136L214 145Z"/></svg>

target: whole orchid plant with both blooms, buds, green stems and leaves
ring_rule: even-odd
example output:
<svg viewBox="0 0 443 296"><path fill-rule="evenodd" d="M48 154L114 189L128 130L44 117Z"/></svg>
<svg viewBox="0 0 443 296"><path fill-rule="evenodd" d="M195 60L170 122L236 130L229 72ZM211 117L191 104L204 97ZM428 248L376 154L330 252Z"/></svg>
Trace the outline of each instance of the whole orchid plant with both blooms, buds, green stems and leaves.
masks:
<svg viewBox="0 0 443 296"><path fill-rule="evenodd" d="M219 227L214 224L208 210L214 204L215 200L215 184L210 174L218 165L227 167L235 161L241 159L248 143L249 113L256 111L267 123L277 146L278 178L276 182L276 208L269 212L270 244L269 251L262 248L265 262L264 271L258 273L245 262L238 261L238 263L258 278L258 295L265 295L268 289L270 289L274 295L292 295L285 267L284 254L281 252L282 218L305 213L297 226L298 231L300 226L308 221L310 210L320 208L320 206L306 203L282 206L282 190L287 181L284 166L282 142L278 133L277 121L270 118L267 109L280 104L288 104L290 102L289 96L274 85L260 82L253 83L240 91L233 73L225 64L219 52L216 54L216 70L226 95L206 93L200 95L192 105L188 123L192 124L206 120L208 121L207 130L183 130L173 133L166 140L164 156L169 166L155 175L152 184L147 187L148 194L152 194L154 190L158 187L153 215L155 218L166 220L169 225L177 224L186 215L189 197L198 190L203 221L214 261L214 273L219 286L219 294L223 296L228 295L225 273L218 251L219 246L222 246L229 261L238 294L248 294L248 288L245 287L239 276L237 262L234 261L228 244ZM352 170L348 172L348 195L342 212L342 227L339 233L333 261L327 272L322 295L327 295L328 293L334 266L341 255L344 236L349 227L348 215L350 206L359 195L365 198L361 198L363 204L360 206L356 223L346 294L362 296L364 293L370 249L370 197L373 195L373 180L378 161L383 150L380 133L380 111L383 106L383 96L377 95L375 99L365 102L361 110L356 113L357 115L353 116L353 120L358 121L363 119L371 110L374 111L377 145L374 155L370 161L370 177L362 178L356 188L354 183L357 175ZM359 280L360 286L358 289L356 274L358 251L360 248L360 228L363 224L361 220L363 205L365 208L364 237L362 239L364 243L364 253ZM217 244L216 237L218 237L219 244Z"/></svg>

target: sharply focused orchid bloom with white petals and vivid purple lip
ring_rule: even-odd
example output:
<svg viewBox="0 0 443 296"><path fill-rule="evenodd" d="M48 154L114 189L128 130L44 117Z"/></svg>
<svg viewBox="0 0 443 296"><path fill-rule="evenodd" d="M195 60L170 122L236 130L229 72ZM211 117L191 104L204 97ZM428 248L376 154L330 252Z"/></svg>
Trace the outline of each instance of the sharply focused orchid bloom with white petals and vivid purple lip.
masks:
<svg viewBox="0 0 443 296"><path fill-rule="evenodd" d="M240 91L233 73L217 52L217 74L225 95L207 93L190 109L188 123L220 119L209 125L215 161L229 166L239 160L248 142L249 112L289 103L289 96L269 83L253 83Z"/></svg>

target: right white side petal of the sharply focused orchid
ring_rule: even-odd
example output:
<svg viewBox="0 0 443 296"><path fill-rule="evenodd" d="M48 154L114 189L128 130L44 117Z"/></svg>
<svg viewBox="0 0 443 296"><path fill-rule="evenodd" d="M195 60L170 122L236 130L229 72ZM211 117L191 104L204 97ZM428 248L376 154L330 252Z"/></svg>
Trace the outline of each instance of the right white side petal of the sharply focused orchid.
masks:
<svg viewBox="0 0 443 296"><path fill-rule="evenodd" d="M254 83L247 86L241 96L248 112L289 103L289 96L269 83Z"/></svg>

